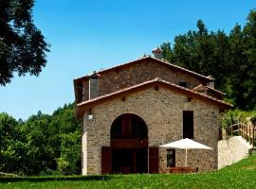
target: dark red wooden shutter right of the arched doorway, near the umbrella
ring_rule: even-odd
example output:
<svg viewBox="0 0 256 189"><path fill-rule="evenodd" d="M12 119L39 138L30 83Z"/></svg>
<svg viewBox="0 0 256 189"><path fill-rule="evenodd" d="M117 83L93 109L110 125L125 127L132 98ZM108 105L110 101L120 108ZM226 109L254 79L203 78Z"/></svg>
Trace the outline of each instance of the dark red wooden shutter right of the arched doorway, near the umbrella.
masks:
<svg viewBox="0 0 256 189"><path fill-rule="evenodd" d="M149 147L149 173L158 173L158 147Z"/></svg>

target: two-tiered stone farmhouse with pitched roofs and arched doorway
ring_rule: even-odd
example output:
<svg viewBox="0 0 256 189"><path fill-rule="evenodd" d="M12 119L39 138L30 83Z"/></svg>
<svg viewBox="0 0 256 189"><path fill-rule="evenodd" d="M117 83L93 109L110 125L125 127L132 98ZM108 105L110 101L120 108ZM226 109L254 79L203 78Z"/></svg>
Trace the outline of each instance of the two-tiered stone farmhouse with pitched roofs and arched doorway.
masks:
<svg viewBox="0 0 256 189"><path fill-rule="evenodd" d="M205 77L145 56L74 79L76 116L82 120L82 175L158 173L183 166L184 151L159 148L182 138L213 150L189 150L188 165L218 167L221 112L231 108Z"/></svg>

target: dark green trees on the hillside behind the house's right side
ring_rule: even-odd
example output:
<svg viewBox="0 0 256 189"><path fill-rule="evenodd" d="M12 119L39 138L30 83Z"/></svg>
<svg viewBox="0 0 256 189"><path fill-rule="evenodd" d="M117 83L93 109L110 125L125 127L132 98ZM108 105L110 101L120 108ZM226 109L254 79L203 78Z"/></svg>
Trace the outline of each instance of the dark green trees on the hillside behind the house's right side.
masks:
<svg viewBox="0 0 256 189"><path fill-rule="evenodd" d="M204 23L198 30L176 36L174 45L163 43L164 59L215 78L215 87L227 93L236 108L256 108L256 10L244 27L236 25L227 35L209 32Z"/></svg>

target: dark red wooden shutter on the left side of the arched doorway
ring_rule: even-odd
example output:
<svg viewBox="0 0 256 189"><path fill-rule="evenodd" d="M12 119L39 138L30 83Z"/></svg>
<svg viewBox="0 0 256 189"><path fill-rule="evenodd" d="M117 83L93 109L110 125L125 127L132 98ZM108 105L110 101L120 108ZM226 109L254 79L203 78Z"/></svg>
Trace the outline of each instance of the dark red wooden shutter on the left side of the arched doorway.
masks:
<svg viewBox="0 0 256 189"><path fill-rule="evenodd" d="M112 150L109 146L101 147L101 174L111 174Z"/></svg>

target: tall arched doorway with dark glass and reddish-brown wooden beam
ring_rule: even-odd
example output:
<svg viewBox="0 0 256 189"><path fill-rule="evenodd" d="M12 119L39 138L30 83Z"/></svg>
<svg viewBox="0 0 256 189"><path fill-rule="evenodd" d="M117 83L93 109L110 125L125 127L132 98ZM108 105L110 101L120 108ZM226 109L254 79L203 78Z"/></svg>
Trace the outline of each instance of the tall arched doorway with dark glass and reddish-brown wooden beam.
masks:
<svg viewBox="0 0 256 189"><path fill-rule="evenodd" d="M148 129L142 118L125 113L111 126L112 173L148 173Z"/></svg>

